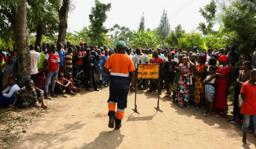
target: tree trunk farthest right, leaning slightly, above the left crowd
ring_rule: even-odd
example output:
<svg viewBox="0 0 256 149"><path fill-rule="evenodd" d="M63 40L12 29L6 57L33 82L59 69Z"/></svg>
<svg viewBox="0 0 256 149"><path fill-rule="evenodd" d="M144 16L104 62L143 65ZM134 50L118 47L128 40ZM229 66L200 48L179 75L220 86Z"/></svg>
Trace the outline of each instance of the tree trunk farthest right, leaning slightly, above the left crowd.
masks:
<svg viewBox="0 0 256 149"><path fill-rule="evenodd" d="M70 0L63 0L62 6L59 11L59 35L57 43L62 43L64 45L67 29L68 29L68 11L69 11Z"/></svg>

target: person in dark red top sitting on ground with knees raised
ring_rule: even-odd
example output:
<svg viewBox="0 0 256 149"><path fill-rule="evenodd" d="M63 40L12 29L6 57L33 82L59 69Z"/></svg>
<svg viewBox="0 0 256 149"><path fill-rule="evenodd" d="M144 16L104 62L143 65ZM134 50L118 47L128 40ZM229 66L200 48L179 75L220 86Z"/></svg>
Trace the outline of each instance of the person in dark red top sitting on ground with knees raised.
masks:
<svg viewBox="0 0 256 149"><path fill-rule="evenodd" d="M55 93L61 93L66 98L67 95L63 92L63 90L66 90L67 93L70 95L76 95L71 91L71 82L65 78L63 78L63 73L59 73L59 77L56 81L54 92Z"/></svg>

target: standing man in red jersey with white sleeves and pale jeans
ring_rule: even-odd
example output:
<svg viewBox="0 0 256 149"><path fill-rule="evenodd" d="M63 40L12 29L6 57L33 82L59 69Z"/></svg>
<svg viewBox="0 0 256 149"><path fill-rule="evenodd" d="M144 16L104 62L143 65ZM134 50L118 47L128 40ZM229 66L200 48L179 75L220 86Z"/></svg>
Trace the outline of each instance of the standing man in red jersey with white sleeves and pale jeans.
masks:
<svg viewBox="0 0 256 149"><path fill-rule="evenodd" d="M58 77L58 70L59 70L59 62L60 62L60 56L55 53L56 51L56 45L51 45L51 52L47 53L45 55L45 60L44 60L44 68L47 71L46 74L46 82L45 82L45 98L49 99L48 97L48 87L51 83L51 96L54 97L54 87L55 87L55 82ZM46 66L46 62L48 62L48 66Z"/></svg>

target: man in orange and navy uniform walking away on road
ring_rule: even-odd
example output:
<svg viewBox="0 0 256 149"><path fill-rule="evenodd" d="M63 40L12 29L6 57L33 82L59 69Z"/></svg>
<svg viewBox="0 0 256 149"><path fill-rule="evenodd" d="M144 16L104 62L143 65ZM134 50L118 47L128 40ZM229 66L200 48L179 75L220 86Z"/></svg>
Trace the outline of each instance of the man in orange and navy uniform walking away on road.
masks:
<svg viewBox="0 0 256 149"><path fill-rule="evenodd" d="M124 117L124 109L127 107L127 95L134 90L134 65L131 57L125 54L125 42L119 41L116 45L117 53L108 57L104 73L110 74L109 98L108 98L108 127L119 129ZM110 72L111 70L111 72ZM131 86L129 82L131 77ZM117 111L116 110L117 103Z"/></svg>

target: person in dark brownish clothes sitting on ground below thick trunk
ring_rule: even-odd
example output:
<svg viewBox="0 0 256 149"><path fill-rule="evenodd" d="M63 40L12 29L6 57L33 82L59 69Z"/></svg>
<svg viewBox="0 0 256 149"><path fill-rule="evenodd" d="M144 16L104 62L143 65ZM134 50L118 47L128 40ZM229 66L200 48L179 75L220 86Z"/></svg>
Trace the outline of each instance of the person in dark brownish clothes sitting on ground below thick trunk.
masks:
<svg viewBox="0 0 256 149"><path fill-rule="evenodd" d="M13 94L16 97L14 98L11 109L13 109L14 106L29 107L33 105L33 107L35 107L35 103L37 101L37 94L40 97L38 103L42 103L41 107L47 108L47 106L44 104L44 91L42 89L34 87L33 80L26 80L25 87L17 90ZM16 104L17 102L18 104Z"/></svg>

